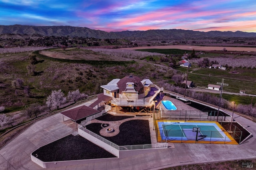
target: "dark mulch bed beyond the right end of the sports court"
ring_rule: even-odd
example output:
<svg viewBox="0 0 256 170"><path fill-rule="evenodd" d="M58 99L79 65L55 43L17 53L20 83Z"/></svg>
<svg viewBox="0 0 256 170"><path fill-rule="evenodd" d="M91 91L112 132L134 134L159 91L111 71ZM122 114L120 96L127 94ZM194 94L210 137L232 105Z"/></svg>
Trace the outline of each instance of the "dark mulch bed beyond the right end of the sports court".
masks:
<svg viewBox="0 0 256 170"><path fill-rule="evenodd" d="M226 131L229 131L230 122L222 122L222 127L224 127ZM242 127L240 124L236 122L233 122L231 126L231 131L234 131L235 129L236 129L236 133L234 135L234 139L236 140L237 143L242 142L244 139L246 139L246 137L250 135L250 133L246 129L244 129L244 127ZM240 131L242 131L242 137L241 137ZM240 137L241 137L241 140L240 140Z"/></svg>

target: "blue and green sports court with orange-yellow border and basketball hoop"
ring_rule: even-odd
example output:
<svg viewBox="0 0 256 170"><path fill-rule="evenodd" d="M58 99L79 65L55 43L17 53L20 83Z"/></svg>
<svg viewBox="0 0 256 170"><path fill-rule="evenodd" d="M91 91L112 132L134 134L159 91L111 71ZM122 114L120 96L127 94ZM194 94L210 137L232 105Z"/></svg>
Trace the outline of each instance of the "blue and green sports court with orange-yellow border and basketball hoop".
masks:
<svg viewBox="0 0 256 170"><path fill-rule="evenodd" d="M158 142L238 144L218 122L158 120L156 123Z"/></svg>

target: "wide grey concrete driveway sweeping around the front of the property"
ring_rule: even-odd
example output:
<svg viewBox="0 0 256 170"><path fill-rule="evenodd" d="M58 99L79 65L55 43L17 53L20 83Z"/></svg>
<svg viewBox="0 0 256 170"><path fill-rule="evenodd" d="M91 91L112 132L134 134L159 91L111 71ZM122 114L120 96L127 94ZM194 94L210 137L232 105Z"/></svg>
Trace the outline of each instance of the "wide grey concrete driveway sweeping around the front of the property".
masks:
<svg viewBox="0 0 256 170"><path fill-rule="evenodd" d="M46 170L158 170L184 164L256 159L256 123L236 114L234 119L253 135L241 145L172 143L168 149L138 151L118 159ZM63 123L62 115L57 113L26 129L0 150L0 170L42 170L31 161L30 153L73 133L74 129L66 122Z"/></svg>

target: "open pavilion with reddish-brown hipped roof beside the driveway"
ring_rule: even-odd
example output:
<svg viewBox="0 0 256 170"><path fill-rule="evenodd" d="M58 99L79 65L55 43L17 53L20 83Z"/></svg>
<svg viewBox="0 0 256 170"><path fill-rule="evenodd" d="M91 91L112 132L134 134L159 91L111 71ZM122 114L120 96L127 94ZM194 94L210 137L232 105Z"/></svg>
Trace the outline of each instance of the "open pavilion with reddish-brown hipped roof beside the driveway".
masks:
<svg viewBox="0 0 256 170"><path fill-rule="evenodd" d="M61 112L61 114L62 114L62 116L66 116L66 117L70 118L76 124L76 121L83 119L85 117L88 117L90 115L94 115L99 112L100 111L95 110L88 106L80 106L80 107L76 107L74 109L63 111L63 112ZM64 117L63 117L63 121L64 121Z"/></svg>

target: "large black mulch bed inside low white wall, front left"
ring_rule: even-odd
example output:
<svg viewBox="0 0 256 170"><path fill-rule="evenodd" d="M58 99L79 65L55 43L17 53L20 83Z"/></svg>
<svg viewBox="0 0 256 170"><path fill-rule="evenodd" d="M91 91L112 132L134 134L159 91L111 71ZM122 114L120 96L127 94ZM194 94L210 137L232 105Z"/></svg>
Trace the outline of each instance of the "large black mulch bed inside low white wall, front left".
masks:
<svg viewBox="0 0 256 170"><path fill-rule="evenodd" d="M45 162L116 157L79 135L68 135L40 147L32 155Z"/></svg>

